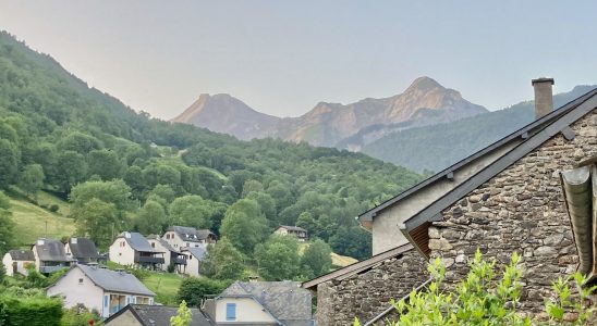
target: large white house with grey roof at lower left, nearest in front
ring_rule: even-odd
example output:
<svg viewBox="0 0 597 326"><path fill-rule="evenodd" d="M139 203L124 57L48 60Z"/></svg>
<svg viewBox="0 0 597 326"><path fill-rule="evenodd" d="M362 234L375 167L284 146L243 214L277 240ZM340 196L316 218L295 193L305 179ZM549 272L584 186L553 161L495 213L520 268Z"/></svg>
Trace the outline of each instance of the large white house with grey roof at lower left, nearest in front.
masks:
<svg viewBox="0 0 597 326"><path fill-rule="evenodd" d="M154 304L155 293L134 275L97 266L76 264L47 290L60 296L65 308L83 304L107 318L129 303Z"/></svg>

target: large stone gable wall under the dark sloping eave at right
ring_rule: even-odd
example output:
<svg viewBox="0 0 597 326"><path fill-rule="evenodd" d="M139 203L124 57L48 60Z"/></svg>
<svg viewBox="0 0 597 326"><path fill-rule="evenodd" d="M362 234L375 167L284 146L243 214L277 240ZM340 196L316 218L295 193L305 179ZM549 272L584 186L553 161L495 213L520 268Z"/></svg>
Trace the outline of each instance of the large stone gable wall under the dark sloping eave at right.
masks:
<svg viewBox="0 0 597 326"><path fill-rule="evenodd" d="M467 273L466 262L480 248L501 263L522 255L525 268L522 308L543 311L551 283L575 272L578 263L559 172L597 155L597 110L517 161L447 209L429 228L431 258L449 265L448 281Z"/></svg>

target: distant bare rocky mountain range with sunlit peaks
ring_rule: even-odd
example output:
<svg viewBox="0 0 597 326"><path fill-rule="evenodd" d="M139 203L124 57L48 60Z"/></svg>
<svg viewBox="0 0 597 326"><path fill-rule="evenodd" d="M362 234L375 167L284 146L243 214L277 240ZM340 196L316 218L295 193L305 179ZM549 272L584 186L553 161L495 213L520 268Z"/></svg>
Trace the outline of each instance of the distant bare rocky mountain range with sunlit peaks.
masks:
<svg viewBox="0 0 597 326"><path fill-rule="evenodd" d="M360 136L366 142L397 129L451 122L484 112L487 112L485 108L466 101L456 90L444 88L429 77L419 77L403 93L393 97L369 98L345 105L319 102L302 116L285 118L258 113L229 96L202 95L172 121L240 139L275 137L334 147L371 126L375 135Z"/></svg>

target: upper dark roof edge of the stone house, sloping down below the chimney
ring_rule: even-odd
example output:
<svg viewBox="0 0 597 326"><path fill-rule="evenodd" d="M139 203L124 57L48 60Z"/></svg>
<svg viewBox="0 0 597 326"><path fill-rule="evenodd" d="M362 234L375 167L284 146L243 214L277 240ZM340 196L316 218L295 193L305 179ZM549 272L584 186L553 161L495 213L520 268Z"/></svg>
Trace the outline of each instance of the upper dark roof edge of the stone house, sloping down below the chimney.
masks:
<svg viewBox="0 0 597 326"><path fill-rule="evenodd" d="M597 95L597 89L593 89L588 91L587 93L578 97L577 99L566 103L565 105L553 110L549 114L546 114L545 116L532 122L531 124L526 125L525 127L508 135L507 137L496 141L495 143L477 151L476 153L470 155L468 158L465 158L461 160L460 162L453 164L450 167L447 167L446 170L435 174L434 176L423 180L422 183L406 189L405 191L399 193L398 196L382 202L381 204L366 211L365 213L362 213L358 215L358 220L361 221L367 221L373 220L379 212L392 206L398 201L401 201L403 199L409 198L411 195L426 188L427 186L430 186L432 184L436 184L439 180L442 180L444 178L451 178L453 176L454 171L458 171L459 168L465 166L466 164L471 163L472 161L484 156L492 151L495 151L497 148L501 148L503 146L507 146L517 139L525 139L521 145L517 145L513 150L509 152L512 153L515 149L519 149L519 151L523 152L531 151L533 148L535 148L536 143L541 143L539 140L541 139L549 139L549 137L553 136L557 133L564 134L565 137L573 137L573 135L570 135L569 130L566 130L564 127L568 126L568 124L574 122L575 120L582 117L586 112L593 110L595 108L595 96ZM548 133L544 133L544 130L547 130ZM568 134L568 135L566 135ZM532 136L539 136L535 138L535 141L531 142L531 139L534 138ZM546 138L546 136L549 136ZM545 140L544 140L545 141ZM507 154L508 155L508 154ZM504 155L504 156L507 156ZM486 171L486 175L495 176L499 172L501 172L503 168L501 167L503 163L513 163L512 161L514 158L511 155L509 158L502 156L502 164L496 165L495 163L489 164L486 168L483 171ZM492 168L490 166L494 166ZM483 172L482 171L482 172ZM478 174L476 174L478 175ZM485 175L483 176L485 178ZM489 177L490 178L490 177ZM477 183L480 178L477 178ZM486 178L487 180L488 178ZM475 184L477 184L475 183ZM483 181L482 181L483 184ZM468 187L467 187L468 188ZM474 188L473 188L474 189ZM452 190L453 191L453 190ZM452 192L453 195L454 192ZM460 195L460 192L459 192ZM443 197L446 198L446 196ZM453 196L449 197L449 199L452 199ZM458 200L458 199L456 199ZM443 203L443 202L442 202ZM435 211L435 210L434 210ZM434 216L425 215L422 217L422 220L431 220ZM418 223L419 224L419 223ZM409 227L409 226L407 226ZM409 227L409 229L412 229L413 227Z"/></svg>

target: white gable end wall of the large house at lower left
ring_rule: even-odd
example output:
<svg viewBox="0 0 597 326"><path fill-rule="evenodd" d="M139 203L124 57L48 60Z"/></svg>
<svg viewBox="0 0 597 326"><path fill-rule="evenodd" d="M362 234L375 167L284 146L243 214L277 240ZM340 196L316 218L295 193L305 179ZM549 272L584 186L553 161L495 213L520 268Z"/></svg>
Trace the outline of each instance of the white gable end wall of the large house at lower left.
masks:
<svg viewBox="0 0 597 326"><path fill-rule="evenodd" d="M65 308L81 303L89 310L102 312L103 289L97 287L78 267L69 271L56 285L48 288L47 294L64 297Z"/></svg>

